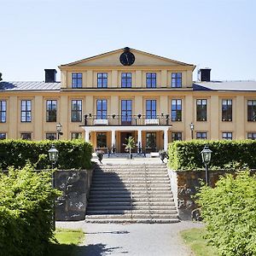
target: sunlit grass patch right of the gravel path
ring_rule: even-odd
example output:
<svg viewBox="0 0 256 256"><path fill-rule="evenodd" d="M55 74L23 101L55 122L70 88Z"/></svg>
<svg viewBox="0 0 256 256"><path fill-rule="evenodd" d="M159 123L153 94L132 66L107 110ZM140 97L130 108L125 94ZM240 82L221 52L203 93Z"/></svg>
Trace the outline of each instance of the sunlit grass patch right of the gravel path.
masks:
<svg viewBox="0 0 256 256"><path fill-rule="evenodd" d="M218 256L217 250L207 244L203 238L207 234L205 229L191 229L181 231L183 241L191 248L195 256Z"/></svg>

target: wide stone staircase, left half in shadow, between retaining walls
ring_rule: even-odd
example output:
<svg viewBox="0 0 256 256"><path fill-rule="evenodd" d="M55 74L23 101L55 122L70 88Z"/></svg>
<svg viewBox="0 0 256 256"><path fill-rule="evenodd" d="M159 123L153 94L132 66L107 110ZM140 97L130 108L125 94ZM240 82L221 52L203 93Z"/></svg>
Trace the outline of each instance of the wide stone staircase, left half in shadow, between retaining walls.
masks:
<svg viewBox="0 0 256 256"><path fill-rule="evenodd" d="M178 222L166 165L96 166L85 221Z"/></svg>

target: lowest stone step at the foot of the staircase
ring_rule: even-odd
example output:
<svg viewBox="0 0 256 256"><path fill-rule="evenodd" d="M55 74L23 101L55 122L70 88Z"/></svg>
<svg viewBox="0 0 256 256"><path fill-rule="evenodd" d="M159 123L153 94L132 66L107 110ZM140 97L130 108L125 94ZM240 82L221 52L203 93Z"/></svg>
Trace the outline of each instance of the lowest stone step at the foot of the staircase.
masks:
<svg viewBox="0 0 256 256"><path fill-rule="evenodd" d="M106 224L106 223L113 223L113 224L122 224L122 223L142 223L142 224L172 224L179 222L178 218L96 218L96 219L86 219L86 223L98 223L98 224Z"/></svg>

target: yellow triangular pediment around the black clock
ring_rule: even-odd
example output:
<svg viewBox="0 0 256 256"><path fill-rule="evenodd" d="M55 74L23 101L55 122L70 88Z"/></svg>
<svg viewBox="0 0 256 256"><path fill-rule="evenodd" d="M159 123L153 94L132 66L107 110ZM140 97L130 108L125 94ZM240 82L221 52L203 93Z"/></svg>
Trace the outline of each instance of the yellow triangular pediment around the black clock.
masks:
<svg viewBox="0 0 256 256"><path fill-rule="evenodd" d="M149 54L137 49L130 49L131 53L135 56L135 61L131 67L144 67L144 66L191 66L194 65L183 63L180 61L174 61L166 57ZM123 67L119 61L119 56L124 52L124 49L117 49L104 53L102 55L96 55L80 61L74 61L61 67Z"/></svg>

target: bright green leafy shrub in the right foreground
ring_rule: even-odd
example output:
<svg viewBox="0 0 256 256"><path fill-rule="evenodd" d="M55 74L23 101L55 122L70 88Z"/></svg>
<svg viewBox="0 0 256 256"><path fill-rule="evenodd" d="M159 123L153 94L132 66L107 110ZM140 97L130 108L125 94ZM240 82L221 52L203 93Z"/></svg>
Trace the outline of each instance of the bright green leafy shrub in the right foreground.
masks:
<svg viewBox="0 0 256 256"><path fill-rule="evenodd" d="M248 171L221 177L197 194L207 238L224 256L256 255L256 176Z"/></svg>

